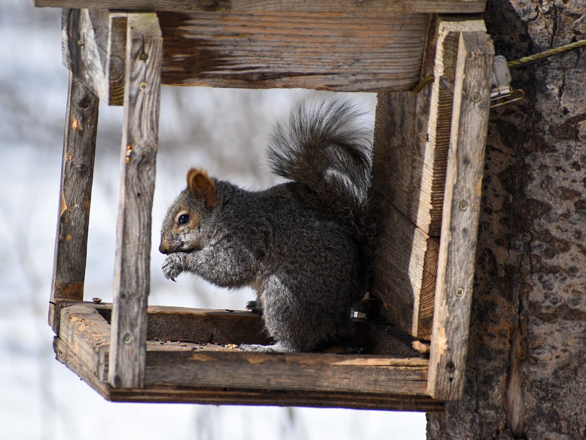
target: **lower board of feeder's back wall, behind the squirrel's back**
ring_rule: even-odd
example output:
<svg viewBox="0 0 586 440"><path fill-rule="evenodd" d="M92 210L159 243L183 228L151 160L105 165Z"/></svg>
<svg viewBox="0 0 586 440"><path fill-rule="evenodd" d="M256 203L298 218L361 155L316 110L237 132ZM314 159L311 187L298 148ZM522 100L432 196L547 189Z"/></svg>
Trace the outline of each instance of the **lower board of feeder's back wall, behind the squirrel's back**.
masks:
<svg viewBox="0 0 586 440"><path fill-rule="evenodd" d="M383 302L383 316L414 337L430 339L439 240L388 202L381 203L381 212L373 293Z"/></svg>

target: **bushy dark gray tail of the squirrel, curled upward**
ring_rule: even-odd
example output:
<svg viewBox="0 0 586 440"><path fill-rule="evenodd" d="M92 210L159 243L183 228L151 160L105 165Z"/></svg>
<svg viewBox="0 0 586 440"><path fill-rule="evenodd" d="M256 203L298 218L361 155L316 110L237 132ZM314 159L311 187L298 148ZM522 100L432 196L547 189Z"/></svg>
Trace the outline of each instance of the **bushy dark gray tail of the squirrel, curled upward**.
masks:
<svg viewBox="0 0 586 440"><path fill-rule="evenodd" d="M355 222L366 202L372 133L360 124L363 114L348 101L300 101L272 133L272 172L304 184L306 197L327 218Z"/></svg>

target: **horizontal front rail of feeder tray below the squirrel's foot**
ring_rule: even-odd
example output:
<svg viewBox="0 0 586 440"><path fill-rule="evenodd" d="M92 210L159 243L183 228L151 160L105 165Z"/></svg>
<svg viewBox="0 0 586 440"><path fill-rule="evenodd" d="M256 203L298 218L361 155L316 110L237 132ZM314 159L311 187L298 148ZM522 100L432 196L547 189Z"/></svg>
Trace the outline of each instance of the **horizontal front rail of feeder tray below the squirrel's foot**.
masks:
<svg viewBox="0 0 586 440"><path fill-rule="evenodd" d="M422 358L149 350L145 384L421 395L427 370Z"/></svg>

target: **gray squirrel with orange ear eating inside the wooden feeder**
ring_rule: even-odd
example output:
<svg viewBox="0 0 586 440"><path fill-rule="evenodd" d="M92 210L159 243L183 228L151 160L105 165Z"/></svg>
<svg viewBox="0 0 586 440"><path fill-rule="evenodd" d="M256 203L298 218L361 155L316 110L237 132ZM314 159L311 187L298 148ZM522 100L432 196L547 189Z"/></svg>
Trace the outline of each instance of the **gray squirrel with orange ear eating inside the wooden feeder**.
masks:
<svg viewBox="0 0 586 440"><path fill-rule="evenodd" d="M286 182L248 191L191 168L169 208L159 246L167 279L190 272L257 291L247 309L275 343L241 350L316 351L352 335L377 236L361 115L347 101L300 102L268 147L272 172Z"/></svg>

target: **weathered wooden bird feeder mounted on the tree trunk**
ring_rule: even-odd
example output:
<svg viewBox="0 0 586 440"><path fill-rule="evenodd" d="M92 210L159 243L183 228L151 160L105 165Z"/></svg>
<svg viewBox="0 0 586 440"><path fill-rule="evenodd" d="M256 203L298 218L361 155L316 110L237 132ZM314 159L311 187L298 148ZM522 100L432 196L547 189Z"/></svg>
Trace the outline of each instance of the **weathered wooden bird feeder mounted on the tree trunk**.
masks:
<svg viewBox="0 0 586 440"><path fill-rule="evenodd" d="M461 397L493 61L484 1L35 4L64 8L71 72L49 311L58 360L112 401L431 412ZM356 319L364 353L220 350L266 343L260 318L147 306L161 84L379 93L372 295L386 319ZM113 304L83 297L99 99L124 106Z"/></svg>

